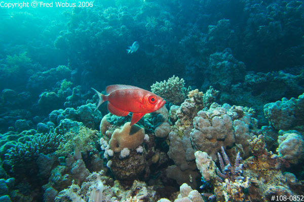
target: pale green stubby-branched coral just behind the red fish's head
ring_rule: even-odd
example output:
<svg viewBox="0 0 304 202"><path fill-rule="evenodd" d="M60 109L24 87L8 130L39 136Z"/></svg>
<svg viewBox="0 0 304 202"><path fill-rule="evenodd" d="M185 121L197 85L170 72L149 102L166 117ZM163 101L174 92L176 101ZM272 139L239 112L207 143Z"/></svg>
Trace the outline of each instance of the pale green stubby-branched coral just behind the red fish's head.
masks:
<svg viewBox="0 0 304 202"><path fill-rule="evenodd" d="M175 77L169 78L168 81L156 82L151 86L151 91L163 97L168 102L174 105L180 105L185 100L187 89L184 87L185 82L183 79Z"/></svg>

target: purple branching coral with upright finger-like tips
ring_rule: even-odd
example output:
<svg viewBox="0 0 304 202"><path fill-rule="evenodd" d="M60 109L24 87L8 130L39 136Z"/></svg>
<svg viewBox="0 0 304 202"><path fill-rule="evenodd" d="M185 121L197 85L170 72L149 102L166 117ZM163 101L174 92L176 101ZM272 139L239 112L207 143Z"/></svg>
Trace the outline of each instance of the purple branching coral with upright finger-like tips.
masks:
<svg viewBox="0 0 304 202"><path fill-rule="evenodd" d="M217 153L219 164L220 164L220 169L216 168L217 175L219 176L218 180L223 182L223 179L229 179L230 181L235 181L235 180L242 180L244 177L241 176L242 169L243 169L243 164L240 164L240 161L242 160L240 156L240 152L237 154L236 160L235 160L235 166L232 167L230 160L228 156L225 153L225 150L223 147L221 147L222 150L222 156Z"/></svg>

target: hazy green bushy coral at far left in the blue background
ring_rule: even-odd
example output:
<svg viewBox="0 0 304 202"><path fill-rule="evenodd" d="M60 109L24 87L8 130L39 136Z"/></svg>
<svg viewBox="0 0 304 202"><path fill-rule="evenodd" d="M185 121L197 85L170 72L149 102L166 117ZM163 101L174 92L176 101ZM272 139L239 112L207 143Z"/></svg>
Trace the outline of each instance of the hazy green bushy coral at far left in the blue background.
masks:
<svg viewBox="0 0 304 202"><path fill-rule="evenodd" d="M17 73L20 72L21 68L28 68L31 65L31 60L26 57L26 54L27 52L19 54L19 56L16 54L13 57L7 56L7 72Z"/></svg>

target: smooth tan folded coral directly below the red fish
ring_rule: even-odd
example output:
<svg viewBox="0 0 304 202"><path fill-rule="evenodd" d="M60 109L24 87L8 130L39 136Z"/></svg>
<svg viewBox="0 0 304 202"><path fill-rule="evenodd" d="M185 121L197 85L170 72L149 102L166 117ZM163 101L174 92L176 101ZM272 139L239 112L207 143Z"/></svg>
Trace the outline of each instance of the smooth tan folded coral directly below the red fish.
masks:
<svg viewBox="0 0 304 202"><path fill-rule="evenodd" d="M143 142L144 128L130 122L125 123L122 129L116 129L109 141L110 148L114 152L120 152L123 148L134 149Z"/></svg>

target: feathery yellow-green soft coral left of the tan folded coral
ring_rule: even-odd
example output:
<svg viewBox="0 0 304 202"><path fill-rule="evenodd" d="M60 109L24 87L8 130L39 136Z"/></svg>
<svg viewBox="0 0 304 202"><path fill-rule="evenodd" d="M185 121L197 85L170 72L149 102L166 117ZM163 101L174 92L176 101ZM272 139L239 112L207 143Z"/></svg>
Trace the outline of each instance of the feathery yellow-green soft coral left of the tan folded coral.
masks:
<svg viewBox="0 0 304 202"><path fill-rule="evenodd" d="M97 130L92 130L87 127L80 127L78 129L71 129L64 134L67 139L65 144L60 144L56 153L59 156L66 156L74 149L74 158L81 159L81 152L92 151L95 148L95 137L97 137Z"/></svg>

